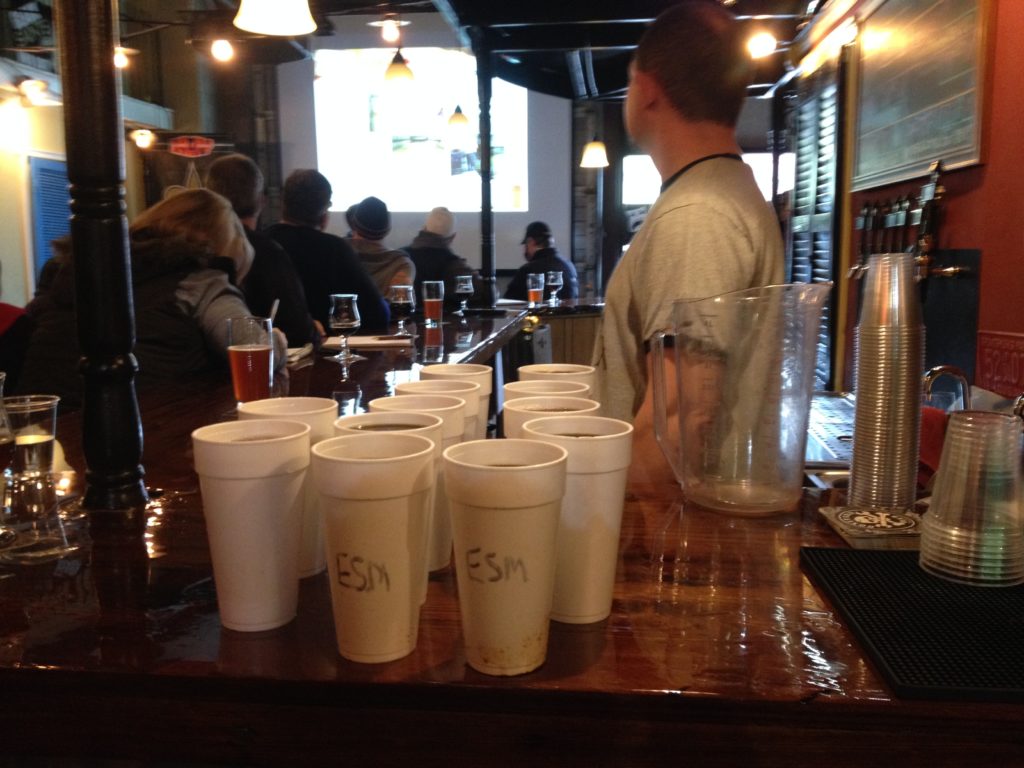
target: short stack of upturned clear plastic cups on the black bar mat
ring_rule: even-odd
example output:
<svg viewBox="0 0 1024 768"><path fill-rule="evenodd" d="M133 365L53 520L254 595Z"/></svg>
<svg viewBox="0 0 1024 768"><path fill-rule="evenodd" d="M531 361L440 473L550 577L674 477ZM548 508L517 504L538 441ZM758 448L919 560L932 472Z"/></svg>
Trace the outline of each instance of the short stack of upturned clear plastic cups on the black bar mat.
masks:
<svg viewBox="0 0 1024 768"><path fill-rule="evenodd" d="M922 519L921 567L982 587L1024 583L1020 492L1021 421L989 411L953 413Z"/></svg>

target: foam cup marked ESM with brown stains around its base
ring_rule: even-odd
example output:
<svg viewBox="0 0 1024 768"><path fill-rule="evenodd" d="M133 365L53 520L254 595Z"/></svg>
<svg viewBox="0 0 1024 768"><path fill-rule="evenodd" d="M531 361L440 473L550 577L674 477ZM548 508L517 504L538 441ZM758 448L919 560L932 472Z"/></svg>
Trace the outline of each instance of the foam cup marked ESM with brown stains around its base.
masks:
<svg viewBox="0 0 1024 768"><path fill-rule="evenodd" d="M566 452L473 440L444 452L466 660L487 675L544 664Z"/></svg>

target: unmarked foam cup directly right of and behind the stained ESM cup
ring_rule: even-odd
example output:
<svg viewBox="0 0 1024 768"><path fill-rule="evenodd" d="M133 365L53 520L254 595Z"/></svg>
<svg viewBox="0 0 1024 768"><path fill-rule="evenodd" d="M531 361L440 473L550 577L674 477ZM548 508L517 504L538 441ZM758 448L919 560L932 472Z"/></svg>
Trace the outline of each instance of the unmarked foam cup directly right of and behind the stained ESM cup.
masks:
<svg viewBox="0 0 1024 768"><path fill-rule="evenodd" d="M568 453L551 617L567 624L607 618L633 426L599 416L555 416L526 422L522 435Z"/></svg>

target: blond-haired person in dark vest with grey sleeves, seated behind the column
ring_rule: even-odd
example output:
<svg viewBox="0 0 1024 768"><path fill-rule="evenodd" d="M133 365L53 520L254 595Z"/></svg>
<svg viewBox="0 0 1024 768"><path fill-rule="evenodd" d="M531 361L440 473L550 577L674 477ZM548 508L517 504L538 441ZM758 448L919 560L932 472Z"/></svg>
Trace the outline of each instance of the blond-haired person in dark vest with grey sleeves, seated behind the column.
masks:
<svg viewBox="0 0 1024 768"><path fill-rule="evenodd" d="M230 203L208 189L178 191L139 214L129 237L139 388L218 367L226 376L225 321L251 314L236 284L253 259ZM36 329L17 388L57 394L62 408L74 408L82 399L74 254L70 239L53 246L46 280L27 307ZM283 369L287 343L280 332L274 341Z"/></svg>

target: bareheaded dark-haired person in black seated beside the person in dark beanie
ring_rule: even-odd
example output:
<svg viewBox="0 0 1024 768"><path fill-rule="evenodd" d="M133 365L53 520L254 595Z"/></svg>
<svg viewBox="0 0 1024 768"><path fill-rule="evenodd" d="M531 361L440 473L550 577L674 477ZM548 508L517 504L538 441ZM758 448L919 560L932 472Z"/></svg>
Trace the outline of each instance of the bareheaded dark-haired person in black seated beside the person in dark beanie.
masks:
<svg viewBox="0 0 1024 768"><path fill-rule="evenodd" d="M384 331L389 313L381 292L348 243L324 231L331 195L331 182L324 174L311 168L292 171L285 179L283 219L264 231L292 257L309 313L322 328L330 325L331 294L354 293L359 297L362 328Z"/></svg>

